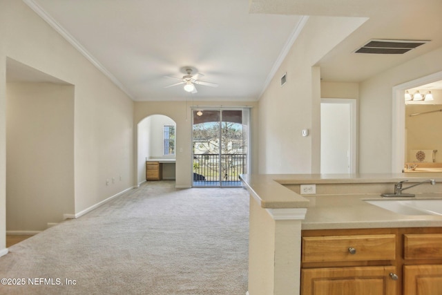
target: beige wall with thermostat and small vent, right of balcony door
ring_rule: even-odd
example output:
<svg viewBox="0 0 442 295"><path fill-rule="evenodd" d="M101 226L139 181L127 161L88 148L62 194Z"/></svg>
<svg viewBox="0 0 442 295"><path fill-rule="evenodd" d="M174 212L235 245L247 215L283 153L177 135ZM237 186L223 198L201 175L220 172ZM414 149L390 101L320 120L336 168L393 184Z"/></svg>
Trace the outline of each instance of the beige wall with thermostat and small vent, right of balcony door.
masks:
<svg viewBox="0 0 442 295"><path fill-rule="evenodd" d="M259 172L316 173L320 169L320 69L316 62L361 19L309 17L259 102ZM287 73L287 83L280 77ZM302 129L310 135L302 137Z"/></svg>

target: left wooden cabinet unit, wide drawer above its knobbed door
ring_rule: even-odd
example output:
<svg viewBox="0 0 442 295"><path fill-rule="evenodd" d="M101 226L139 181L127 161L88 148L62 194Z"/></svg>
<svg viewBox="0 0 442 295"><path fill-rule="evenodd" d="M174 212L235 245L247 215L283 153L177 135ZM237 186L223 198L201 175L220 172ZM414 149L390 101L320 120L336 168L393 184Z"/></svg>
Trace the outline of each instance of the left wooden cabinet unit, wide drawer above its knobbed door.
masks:
<svg viewBox="0 0 442 295"><path fill-rule="evenodd" d="M300 293L397 294L396 234L344 233L302 232Z"/></svg>

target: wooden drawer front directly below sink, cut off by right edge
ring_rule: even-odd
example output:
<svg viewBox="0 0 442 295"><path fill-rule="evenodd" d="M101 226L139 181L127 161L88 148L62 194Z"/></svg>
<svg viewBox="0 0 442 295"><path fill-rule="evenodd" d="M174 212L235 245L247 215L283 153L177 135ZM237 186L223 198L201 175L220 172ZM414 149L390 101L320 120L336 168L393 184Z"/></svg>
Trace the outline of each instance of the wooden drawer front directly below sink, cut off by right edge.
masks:
<svg viewBox="0 0 442 295"><path fill-rule="evenodd" d="M405 234L405 259L442 259L442 234Z"/></svg>

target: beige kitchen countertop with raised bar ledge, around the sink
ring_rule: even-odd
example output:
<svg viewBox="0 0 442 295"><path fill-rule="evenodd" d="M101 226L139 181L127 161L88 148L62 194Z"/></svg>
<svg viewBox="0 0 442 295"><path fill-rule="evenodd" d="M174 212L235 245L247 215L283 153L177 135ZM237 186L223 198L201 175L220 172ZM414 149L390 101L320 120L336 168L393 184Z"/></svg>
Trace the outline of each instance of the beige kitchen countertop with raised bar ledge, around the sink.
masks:
<svg viewBox="0 0 442 295"><path fill-rule="evenodd" d="M284 186L287 184L385 184L401 180L419 182L428 178L442 182L442 173L240 175L240 179L251 196L264 209L307 208L305 220L302 220L302 229L442 227L442 216L405 216L364 202L364 200L382 199L380 193L301 196ZM416 194L416 198L424 197ZM425 198L440 198L442 202L442 193L434 193L432 196L425 193Z"/></svg>

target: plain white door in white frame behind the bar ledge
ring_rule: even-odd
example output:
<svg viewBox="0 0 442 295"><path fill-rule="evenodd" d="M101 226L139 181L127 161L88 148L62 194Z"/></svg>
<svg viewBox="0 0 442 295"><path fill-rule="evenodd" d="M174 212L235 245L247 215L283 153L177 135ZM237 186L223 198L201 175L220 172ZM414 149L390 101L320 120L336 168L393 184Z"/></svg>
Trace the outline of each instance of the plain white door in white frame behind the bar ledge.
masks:
<svg viewBox="0 0 442 295"><path fill-rule="evenodd" d="M320 173L356 171L356 100L323 99L320 104Z"/></svg>

